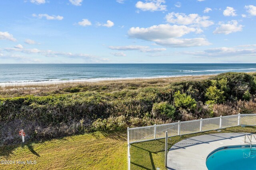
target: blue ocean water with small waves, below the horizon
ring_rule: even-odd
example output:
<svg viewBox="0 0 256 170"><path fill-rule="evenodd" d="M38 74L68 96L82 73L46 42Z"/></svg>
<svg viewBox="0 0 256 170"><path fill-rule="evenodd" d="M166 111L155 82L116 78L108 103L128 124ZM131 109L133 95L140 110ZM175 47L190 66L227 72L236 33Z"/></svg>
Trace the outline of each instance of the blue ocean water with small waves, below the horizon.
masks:
<svg viewBox="0 0 256 170"><path fill-rule="evenodd" d="M256 64L0 64L0 83L254 72Z"/></svg>

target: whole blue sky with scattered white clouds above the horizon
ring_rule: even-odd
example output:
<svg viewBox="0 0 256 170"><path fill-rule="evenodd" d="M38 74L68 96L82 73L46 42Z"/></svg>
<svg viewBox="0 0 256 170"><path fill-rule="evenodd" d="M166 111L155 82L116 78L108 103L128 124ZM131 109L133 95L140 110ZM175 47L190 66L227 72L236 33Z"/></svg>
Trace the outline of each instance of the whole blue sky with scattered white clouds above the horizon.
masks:
<svg viewBox="0 0 256 170"><path fill-rule="evenodd" d="M1 0L0 63L256 63L255 0Z"/></svg>

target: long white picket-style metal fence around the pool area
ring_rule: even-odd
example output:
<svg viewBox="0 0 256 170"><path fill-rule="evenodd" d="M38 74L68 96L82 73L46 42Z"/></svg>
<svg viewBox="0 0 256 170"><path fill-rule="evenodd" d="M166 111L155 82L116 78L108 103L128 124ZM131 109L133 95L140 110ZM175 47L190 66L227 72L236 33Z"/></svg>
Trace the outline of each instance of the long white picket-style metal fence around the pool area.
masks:
<svg viewBox="0 0 256 170"><path fill-rule="evenodd" d="M238 114L229 116L213 117L192 121L178 121L162 125L152 125L144 127L127 128L128 142L128 170L130 170L130 144L155 139L165 138L166 131L168 137L187 135L192 133L212 131L234 126L256 125L256 114Z"/></svg>

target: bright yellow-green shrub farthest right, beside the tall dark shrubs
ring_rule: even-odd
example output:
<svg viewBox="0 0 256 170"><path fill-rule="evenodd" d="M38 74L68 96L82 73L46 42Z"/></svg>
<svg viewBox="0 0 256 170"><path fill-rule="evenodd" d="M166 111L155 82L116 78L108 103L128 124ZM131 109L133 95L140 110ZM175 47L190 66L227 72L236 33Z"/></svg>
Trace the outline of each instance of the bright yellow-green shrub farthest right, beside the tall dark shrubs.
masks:
<svg viewBox="0 0 256 170"><path fill-rule="evenodd" d="M216 103L224 102L225 97L223 96L224 91L218 89L216 86L210 86L206 89L205 96Z"/></svg>

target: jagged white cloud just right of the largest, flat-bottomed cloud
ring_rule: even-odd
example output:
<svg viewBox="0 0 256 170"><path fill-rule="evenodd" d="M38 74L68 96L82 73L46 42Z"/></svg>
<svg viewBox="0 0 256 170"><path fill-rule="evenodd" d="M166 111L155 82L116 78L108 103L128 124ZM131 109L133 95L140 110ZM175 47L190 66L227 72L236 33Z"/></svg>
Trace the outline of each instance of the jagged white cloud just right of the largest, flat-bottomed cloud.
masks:
<svg viewBox="0 0 256 170"><path fill-rule="evenodd" d="M238 25L238 22L236 20L228 21L228 23L219 23L220 27L217 27L215 31L213 31L214 34L230 34L237 31L242 31L243 25Z"/></svg>

